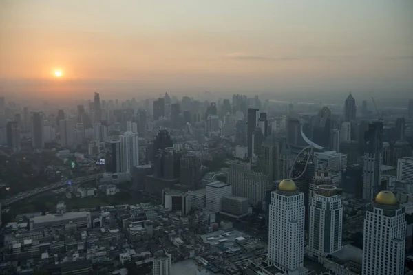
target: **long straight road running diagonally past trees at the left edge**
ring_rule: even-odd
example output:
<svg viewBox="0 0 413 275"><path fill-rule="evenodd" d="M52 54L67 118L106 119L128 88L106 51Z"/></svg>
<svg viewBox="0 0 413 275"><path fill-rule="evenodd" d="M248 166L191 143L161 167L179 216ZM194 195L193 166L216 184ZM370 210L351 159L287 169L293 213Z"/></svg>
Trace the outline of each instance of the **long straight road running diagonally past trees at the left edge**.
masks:
<svg viewBox="0 0 413 275"><path fill-rule="evenodd" d="M76 179L71 179L70 181L71 181L72 185L84 184L88 181L93 181L96 178L100 178L100 177L102 177L102 175L103 175L103 173L98 173L98 174L94 174L94 175L88 175L88 176L85 176L85 177L77 177ZM57 189L57 188L61 188L63 186L67 186L68 181L69 181L68 179L62 179L61 181L58 181L54 184L50 184L48 186L39 187L39 188L36 188L34 190L30 190L30 191L27 191L27 192L21 192L21 193L15 195L14 197L11 197L11 198L5 199L4 201L1 201L0 202L1 206L10 206L12 203L16 203L16 202L21 201L23 199L27 199L28 197L39 195L42 192L47 192L47 191L50 191L50 190L53 190L53 189Z"/></svg>

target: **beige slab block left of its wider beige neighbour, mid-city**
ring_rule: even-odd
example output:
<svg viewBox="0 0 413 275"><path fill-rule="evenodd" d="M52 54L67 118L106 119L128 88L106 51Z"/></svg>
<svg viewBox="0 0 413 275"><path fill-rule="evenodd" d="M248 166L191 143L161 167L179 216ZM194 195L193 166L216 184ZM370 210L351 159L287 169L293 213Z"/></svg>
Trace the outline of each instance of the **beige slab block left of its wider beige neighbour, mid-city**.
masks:
<svg viewBox="0 0 413 275"><path fill-rule="evenodd" d="M232 161L229 165L228 183L232 185L234 196L246 197L245 173L251 169L249 162Z"/></svg>

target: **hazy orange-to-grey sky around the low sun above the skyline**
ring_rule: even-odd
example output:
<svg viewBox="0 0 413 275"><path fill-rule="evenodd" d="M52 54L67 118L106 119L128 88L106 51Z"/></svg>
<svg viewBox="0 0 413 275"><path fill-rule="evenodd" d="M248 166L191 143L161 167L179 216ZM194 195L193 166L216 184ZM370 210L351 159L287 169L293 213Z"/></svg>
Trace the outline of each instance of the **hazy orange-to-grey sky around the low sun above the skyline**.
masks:
<svg viewBox="0 0 413 275"><path fill-rule="evenodd" d="M388 0L1 0L0 93L408 95L412 14Z"/></svg>

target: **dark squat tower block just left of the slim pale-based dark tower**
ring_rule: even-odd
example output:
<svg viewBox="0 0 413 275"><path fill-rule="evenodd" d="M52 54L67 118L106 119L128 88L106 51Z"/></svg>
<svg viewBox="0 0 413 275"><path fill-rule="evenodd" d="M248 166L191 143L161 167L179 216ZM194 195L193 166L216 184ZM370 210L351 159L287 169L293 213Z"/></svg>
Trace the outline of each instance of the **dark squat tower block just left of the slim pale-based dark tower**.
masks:
<svg viewBox="0 0 413 275"><path fill-rule="evenodd" d="M347 166L341 172L341 188L357 199L363 197L363 167L359 164Z"/></svg>

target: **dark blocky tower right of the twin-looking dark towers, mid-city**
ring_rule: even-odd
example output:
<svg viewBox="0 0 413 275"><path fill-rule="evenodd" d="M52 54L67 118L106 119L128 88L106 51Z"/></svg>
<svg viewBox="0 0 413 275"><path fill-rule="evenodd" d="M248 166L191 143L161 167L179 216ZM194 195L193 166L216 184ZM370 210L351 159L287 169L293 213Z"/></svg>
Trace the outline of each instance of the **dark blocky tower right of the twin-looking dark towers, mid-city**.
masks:
<svg viewBox="0 0 413 275"><path fill-rule="evenodd" d="M201 179L201 159L193 152L186 153L180 158L180 184L198 188Z"/></svg>

